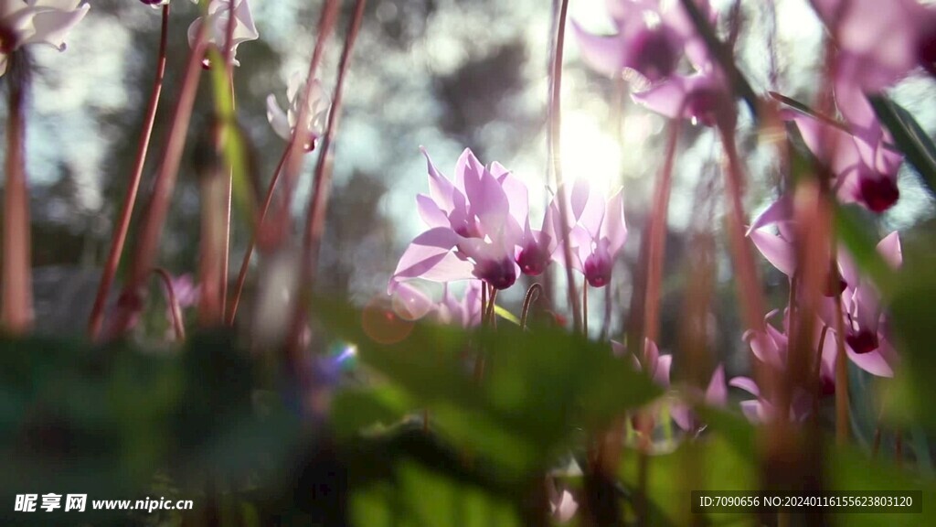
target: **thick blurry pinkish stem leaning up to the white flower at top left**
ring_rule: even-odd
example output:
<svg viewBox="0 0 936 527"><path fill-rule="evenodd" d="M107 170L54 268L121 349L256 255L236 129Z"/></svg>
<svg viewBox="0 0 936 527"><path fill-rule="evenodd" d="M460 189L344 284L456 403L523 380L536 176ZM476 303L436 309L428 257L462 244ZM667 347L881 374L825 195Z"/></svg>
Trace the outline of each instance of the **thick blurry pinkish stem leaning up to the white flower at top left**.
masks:
<svg viewBox="0 0 936 527"><path fill-rule="evenodd" d="M169 199L172 196L172 190L175 188L179 164L182 161L185 136L192 117L192 107L195 104L198 82L201 79L201 60L205 56L207 28L208 24L201 24L195 46L193 46L192 53L188 58L188 64L185 67L179 98L176 99L175 110L172 113L162 164L158 173L156 173L153 197L146 210L146 215L141 219L139 244L134 254L133 264L130 267L129 279L124 287L124 292L121 294L122 301L119 301L120 309L117 312L117 319L112 329L114 335L123 334L129 327L134 310L139 309L141 305L140 296L142 295L143 281L153 267L159 238L168 214Z"/></svg>

